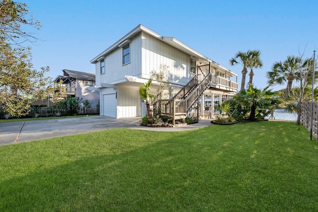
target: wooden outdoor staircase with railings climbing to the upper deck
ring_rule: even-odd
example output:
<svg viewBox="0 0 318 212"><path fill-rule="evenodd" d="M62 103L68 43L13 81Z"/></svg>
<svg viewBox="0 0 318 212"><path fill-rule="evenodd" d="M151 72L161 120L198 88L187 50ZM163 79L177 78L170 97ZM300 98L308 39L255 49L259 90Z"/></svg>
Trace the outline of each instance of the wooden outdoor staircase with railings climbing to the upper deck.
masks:
<svg viewBox="0 0 318 212"><path fill-rule="evenodd" d="M210 65L198 67L200 74L196 74L171 99L158 100L158 107L162 114L170 116L172 124L176 120L184 123L185 118L195 109L204 92L210 88L212 74L208 70Z"/></svg>

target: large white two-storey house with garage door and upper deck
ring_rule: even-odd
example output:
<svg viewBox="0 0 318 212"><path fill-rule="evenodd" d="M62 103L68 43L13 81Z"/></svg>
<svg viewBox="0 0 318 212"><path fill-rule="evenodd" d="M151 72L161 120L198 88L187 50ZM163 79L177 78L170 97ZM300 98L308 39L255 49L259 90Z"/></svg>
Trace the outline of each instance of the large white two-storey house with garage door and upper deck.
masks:
<svg viewBox="0 0 318 212"><path fill-rule="evenodd" d="M207 112L205 96L231 98L238 91L237 74L222 67L173 37L163 37L143 25L137 26L90 63L96 67L96 88L100 90L100 115L115 118L145 116L139 87L151 71L168 67L170 96L157 102L173 120L199 106L201 118ZM231 79L234 77L235 81ZM153 94L158 82L153 81ZM220 98L221 96L221 98ZM213 111L211 104L210 114Z"/></svg>

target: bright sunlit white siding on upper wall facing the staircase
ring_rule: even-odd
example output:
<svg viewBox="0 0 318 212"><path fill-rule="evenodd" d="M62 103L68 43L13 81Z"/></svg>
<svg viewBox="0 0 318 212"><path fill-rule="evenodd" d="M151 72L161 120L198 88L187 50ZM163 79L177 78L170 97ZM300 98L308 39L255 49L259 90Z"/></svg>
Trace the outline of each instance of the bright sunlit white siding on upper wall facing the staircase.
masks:
<svg viewBox="0 0 318 212"><path fill-rule="evenodd" d="M150 75L150 71L159 71L160 65L169 67L169 80L184 84L190 72L189 55L142 32L142 73Z"/></svg>

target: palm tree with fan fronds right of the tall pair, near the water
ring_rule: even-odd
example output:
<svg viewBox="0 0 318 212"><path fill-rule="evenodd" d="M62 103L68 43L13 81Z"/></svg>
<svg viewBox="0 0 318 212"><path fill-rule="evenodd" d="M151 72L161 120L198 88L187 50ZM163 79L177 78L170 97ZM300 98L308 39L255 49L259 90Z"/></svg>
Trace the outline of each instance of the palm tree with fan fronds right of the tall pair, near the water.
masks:
<svg viewBox="0 0 318 212"><path fill-rule="evenodd" d="M287 81L283 100L287 98L292 89L293 81L297 79L297 71L301 62L300 57L288 56L283 62L275 62L272 71L267 72L268 85L283 85Z"/></svg>

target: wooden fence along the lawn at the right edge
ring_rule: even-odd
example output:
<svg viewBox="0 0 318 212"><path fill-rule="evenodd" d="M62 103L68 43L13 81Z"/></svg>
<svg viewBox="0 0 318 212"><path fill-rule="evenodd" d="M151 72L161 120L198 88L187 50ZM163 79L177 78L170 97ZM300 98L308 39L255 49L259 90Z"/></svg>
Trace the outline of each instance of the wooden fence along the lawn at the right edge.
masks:
<svg viewBox="0 0 318 212"><path fill-rule="evenodd" d="M300 122L306 127L306 129L310 132L312 127L313 120L313 129L312 135L318 140L318 102L313 103L313 119L312 119L312 103L311 102L303 102L302 103L302 114L300 117Z"/></svg>

